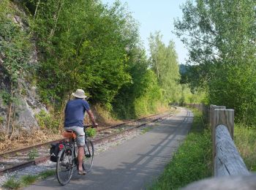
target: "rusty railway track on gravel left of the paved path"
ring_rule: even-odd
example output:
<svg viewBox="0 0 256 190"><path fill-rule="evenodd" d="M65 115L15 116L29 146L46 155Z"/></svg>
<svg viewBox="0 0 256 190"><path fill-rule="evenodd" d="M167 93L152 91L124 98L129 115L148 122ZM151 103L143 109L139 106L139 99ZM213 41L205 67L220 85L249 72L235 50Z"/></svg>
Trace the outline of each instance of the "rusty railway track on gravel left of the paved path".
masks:
<svg viewBox="0 0 256 190"><path fill-rule="evenodd" d="M98 144L100 142L104 142L105 140L113 139L120 134L131 132L132 130L138 129L140 126L144 126L147 123L158 121L160 118L170 114L172 113L169 111L167 113L150 115L145 118L139 118L137 120L127 121L114 126L98 129L97 136L91 138L91 140L94 142L94 144ZM64 140L64 138L38 145L32 145L26 148L20 148L15 151L0 153L0 175L3 175L6 172L13 172L24 167L29 167L34 164L40 164L48 161L50 159L50 144L53 142L59 142L61 140Z"/></svg>

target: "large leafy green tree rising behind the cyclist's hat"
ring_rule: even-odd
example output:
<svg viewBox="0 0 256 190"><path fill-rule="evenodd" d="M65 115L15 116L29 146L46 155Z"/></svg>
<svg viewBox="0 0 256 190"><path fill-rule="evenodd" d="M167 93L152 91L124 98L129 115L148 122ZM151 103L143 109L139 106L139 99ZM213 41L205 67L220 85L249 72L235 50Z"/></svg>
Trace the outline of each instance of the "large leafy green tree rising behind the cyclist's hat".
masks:
<svg viewBox="0 0 256 190"><path fill-rule="evenodd" d="M34 30L45 54L39 69L42 98L66 99L83 88L91 102L109 107L130 81L127 53L138 33L129 13L118 3L107 8L92 0L51 0L37 8Z"/></svg>

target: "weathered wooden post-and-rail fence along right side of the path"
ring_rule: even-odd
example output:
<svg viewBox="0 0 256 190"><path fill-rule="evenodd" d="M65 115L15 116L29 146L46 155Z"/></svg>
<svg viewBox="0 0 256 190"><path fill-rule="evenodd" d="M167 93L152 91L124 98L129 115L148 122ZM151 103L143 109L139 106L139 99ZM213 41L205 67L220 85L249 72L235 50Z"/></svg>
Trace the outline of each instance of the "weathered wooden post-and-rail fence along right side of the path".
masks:
<svg viewBox="0 0 256 190"><path fill-rule="evenodd" d="M204 108L202 104L186 105L202 110L208 115L215 178L200 180L184 189L256 189L256 174L247 170L233 142L234 110L216 105Z"/></svg>

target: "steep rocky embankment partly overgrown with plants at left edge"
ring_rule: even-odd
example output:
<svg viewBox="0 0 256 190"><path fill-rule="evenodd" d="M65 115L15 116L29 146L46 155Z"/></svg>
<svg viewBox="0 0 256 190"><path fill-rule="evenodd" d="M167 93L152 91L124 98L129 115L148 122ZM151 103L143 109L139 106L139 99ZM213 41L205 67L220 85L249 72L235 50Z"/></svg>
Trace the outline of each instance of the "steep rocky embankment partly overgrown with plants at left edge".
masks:
<svg viewBox="0 0 256 190"><path fill-rule="evenodd" d="M10 4L7 4L7 6L10 7ZM31 128L38 128L35 114L42 109L46 110L45 106L39 102L37 86L35 85L36 78L34 75L38 64L38 53L34 40L29 39L30 51L26 69L21 66L17 69L19 60L8 57L13 53L17 53L18 50L15 47L19 42L15 33L7 36L9 28L18 28L17 30L23 32L23 34L29 34L26 14L17 5L11 5L12 9L14 9L13 12L1 15L2 26L6 27L0 30L0 132L2 134L14 134L19 131L18 129L30 131ZM20 52L20 54L22 53ZM18 61L12 64L12 60ZM12 66L17 74L15 79L10 75Z"/></svg>

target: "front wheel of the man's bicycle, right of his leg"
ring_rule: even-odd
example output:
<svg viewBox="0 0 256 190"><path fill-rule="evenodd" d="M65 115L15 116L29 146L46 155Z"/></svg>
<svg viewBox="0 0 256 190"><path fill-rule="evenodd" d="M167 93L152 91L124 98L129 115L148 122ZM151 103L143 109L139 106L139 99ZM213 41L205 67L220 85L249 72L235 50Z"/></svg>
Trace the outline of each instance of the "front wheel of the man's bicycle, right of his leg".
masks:
<svg viewBox="0 0 256 190"><path fill-rule="evenodd" d="M85 156L83 156L83 170L90 172L94 161L94 143L91 142L91 140L86 140L84 152Z"/></svg>

